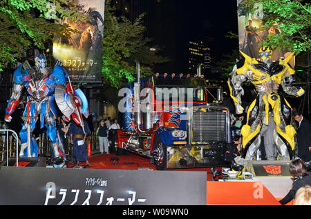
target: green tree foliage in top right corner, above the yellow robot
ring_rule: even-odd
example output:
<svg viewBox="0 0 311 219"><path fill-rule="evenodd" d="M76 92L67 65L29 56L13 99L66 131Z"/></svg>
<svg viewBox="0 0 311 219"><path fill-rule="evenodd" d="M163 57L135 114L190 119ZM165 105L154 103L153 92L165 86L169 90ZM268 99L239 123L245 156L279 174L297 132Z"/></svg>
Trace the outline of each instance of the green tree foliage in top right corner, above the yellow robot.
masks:
<svg viewBox="0 0 311 219"><path fill-rule="evenodd" d="M270 45L272 49L288 49L310 52L311 5L302 0L245 0L241 3L252 10L254 3L263 5L265 28L275 25L280 34L267 34L261 45Z"/></svg>

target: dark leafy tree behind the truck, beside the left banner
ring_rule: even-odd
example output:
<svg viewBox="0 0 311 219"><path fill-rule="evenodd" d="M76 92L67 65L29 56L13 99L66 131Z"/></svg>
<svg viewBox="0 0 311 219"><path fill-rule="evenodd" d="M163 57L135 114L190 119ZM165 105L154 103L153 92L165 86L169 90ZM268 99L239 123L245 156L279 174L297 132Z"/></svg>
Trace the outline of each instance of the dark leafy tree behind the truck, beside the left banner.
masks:
<svg viewBox="0 0 311 219"><path fill-rule="evenodd" d="M116 17L111 1L106 0L104 14L104 41L102 78L104 85L120 88L124 83L135 80L135 59L141 65L142 76L153 73L152 67L157 63L168 61L158 55L160 48L152 45L151 39L144 37L142 25L144 14L133 23L126 17ZM154 50L150 50L152 48Z"/></svg>

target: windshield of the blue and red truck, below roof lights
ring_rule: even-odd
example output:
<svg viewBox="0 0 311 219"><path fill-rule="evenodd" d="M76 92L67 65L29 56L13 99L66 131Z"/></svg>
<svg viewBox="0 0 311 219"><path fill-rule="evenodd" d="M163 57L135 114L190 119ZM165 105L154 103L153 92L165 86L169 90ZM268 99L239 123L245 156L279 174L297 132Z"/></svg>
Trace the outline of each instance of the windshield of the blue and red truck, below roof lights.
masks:
<svg viewBox="0 0 311 219"><path fill-rule="evenodd" d="M155 87L156 101L205 102L204 87Z"/></svg>

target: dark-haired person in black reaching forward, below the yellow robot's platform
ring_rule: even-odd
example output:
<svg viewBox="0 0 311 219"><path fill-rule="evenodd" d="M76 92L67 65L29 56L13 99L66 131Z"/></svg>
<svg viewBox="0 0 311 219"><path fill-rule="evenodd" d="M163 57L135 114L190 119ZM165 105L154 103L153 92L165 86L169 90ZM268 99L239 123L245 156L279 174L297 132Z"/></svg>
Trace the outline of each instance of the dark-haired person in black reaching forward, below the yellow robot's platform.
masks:
<svg viewBox="0 0 311 219"><path fill-rule="evenodd" d="M305 163L303 163L303 160L292 160L290 163L290 174L294 177L292 189L290 189L288 194L279 201L281 205L286 205L293 200L298 189L305 187L305 185L311 185L311 174L308 173L308 169L305 166Z"/></svg>

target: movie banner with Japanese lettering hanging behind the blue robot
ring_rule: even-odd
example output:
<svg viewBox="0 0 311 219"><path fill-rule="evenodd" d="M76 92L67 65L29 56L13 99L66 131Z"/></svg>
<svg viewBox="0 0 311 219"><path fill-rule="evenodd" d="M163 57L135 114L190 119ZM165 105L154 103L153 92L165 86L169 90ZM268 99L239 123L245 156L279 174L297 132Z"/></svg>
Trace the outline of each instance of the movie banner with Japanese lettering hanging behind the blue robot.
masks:
<svg viewBox="0 0 311 219"><path fill-rule="evenodd" d="M91 21L81 23L64 19L62 23L77 32L67 39L55 38L53 56L62 61L71 82L101 83L105 0L77 0L77 3L79 12L91 17Z"/></svg>

